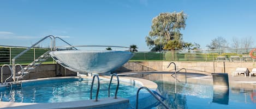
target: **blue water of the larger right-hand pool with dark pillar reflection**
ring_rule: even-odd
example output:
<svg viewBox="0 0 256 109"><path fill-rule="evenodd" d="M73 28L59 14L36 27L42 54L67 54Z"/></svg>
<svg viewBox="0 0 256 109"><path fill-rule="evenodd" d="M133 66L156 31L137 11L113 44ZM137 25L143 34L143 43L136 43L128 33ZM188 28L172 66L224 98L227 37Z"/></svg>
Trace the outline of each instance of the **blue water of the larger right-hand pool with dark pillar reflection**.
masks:
<svg viewBox="0 0 256 109"><path fill-rule="evenodd" d="M154 82L158 84L159 92L166 98L164 102L170 108L256 108L256 91L253 89L231 87L229 90L215 91L210 85L179 83L175 93L175 83ZM158 105L154 108L164 107Z"/></svg>

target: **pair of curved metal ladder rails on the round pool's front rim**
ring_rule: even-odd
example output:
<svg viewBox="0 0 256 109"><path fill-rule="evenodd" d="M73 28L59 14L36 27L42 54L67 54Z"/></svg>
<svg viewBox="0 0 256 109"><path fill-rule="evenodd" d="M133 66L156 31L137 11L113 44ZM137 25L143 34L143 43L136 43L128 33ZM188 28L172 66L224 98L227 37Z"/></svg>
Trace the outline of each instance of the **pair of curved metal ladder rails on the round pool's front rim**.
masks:
<svg viewBox="0 0 256 109"><path fill-rule="evenodd" d="M111 75L111 79L110 79L110 82L109 82L109 88L108 88L108 97L110 97L110 86L111 86L111 82L112 82L112 79L113 79L114 75L117 78L117 86L116 86L116 92L115 92L115 99L117 99L117 91L118 91L118 87L119 87L119 78L118 78L118 75L115 74L115 73ZM92 99L92 88L93 88L93 84L94 84L94 79L96 77L97 77L97 80L98 80L98 87L97 87L96 100L95 101L98 101L99 87L100 87L99 75L94 75L93 78L92 78L92 85L91 85L91 91L90 91L90 99Z"/></svg>

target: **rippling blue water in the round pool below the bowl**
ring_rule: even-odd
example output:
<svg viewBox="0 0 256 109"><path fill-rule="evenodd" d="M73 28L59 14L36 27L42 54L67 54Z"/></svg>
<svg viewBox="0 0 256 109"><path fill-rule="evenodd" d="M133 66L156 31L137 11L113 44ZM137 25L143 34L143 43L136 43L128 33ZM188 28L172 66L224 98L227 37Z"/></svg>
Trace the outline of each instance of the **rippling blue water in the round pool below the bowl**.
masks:
<svg viewBox="0 0 256 109"><path fill-rule="evenodd" d="M66 102L90 99L92 79L58 79L23 83L21 88L0 88L0 100L10 102ZM116 81L113 80L110 96L114 97ZM98 98L108 97L109 79L100 79ZM120 81L117 97L128 98L136 95L140 85L133 82ZM95 99L97 81L94 82L92 98Z"/></svg>

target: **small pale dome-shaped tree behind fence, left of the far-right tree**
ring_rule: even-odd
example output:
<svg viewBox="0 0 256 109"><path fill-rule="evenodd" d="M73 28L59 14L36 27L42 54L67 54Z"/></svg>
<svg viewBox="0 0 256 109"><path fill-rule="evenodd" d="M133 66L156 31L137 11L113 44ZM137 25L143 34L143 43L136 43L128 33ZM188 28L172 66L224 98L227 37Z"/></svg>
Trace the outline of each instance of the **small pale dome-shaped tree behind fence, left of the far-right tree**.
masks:
<svg viewBox="0 0 256 109"><path fill-rule="evenodd" d="M225 49L228 48L228 43L227 40L225 40L223 37L219 36L213 40L211 40L212 42L210 44L208 44L206 47L208 47L209 49Z"/></svg>

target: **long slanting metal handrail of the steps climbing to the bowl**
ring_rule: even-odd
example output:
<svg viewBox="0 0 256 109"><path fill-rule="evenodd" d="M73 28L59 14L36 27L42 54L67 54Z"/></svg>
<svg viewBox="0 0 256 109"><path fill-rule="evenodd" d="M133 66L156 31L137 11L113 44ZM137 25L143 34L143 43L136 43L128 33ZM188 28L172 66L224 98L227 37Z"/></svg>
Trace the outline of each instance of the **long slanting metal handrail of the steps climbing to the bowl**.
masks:
<svg viewBox="0 0 256 109"><path fill-rule="evenodd" d="M13 57L13 59L12 59L12 61L13 61L13 62L12 62L12 65L13 65L13 72L16 72L16 69L15 69L15 60L16 60L18 57L20 57L20 56L23 55L24 53L28 52L28 50L30 50L31 48L37 46L38 43L40 43L41 41L43 41L43 40L45 40L45 39L47 39L47 38L49 38L49 37L50 37L50 39L51 39L51 50L52 50L52 40L53 40L53 44L55 44L55 37L52 36L52 35L45 36L43 39L41 39L41 40L38 41L37 43L33 44L31 47L27 48L26 50L23 50L23 52L21 52L20 54L16 55L15 57ZM54 47L54 48L55 48L55 47ZM14 73L14 75L13 75L13 80L14 80L14 82L16 81L16 80L15 80L15 73Z"/></svg>

